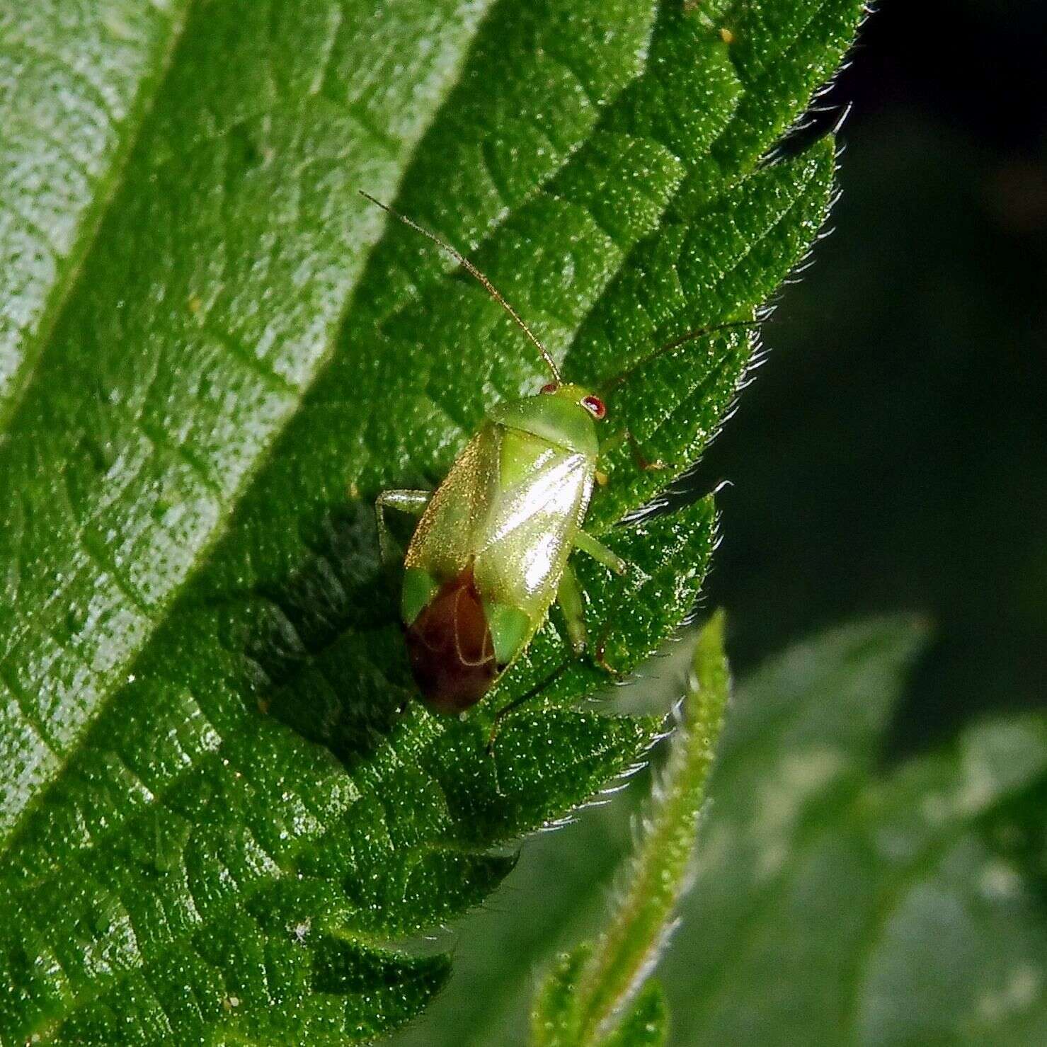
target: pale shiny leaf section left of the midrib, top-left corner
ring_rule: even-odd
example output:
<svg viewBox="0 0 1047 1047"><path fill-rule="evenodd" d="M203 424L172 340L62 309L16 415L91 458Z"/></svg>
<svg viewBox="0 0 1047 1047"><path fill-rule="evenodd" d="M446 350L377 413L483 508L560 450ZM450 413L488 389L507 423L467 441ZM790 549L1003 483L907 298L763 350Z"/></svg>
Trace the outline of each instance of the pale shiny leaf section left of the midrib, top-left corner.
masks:
<svg viewBox="0 0 1047 1047"><path fill-rule="evenodd" d="M0 432L119 185L186 7L0 4Z"/></svg>

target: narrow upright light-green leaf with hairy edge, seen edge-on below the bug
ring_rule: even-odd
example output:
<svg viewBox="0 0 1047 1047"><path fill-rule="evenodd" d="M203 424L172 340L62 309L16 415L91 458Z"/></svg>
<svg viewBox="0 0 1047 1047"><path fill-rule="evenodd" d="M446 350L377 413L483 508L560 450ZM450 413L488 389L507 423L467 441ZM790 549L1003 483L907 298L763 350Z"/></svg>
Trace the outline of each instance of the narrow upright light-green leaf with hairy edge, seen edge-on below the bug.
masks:
<svg viewBox="0 0 1047 1047"><path fill-rule="evenodd" d="M644 987L687 889L713 750L723 727L729 676L723 616L698 637L684 718L665 774L643 819L644 838L623 873L615 910L593 945L567 954L547 979L532 1016L536 1047L642 1042L659 1033L661 994L631 1004ZM649 1028L648 1028L649 1026Z"/></svg>

